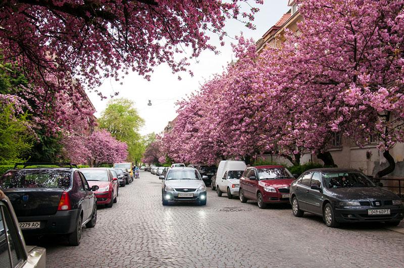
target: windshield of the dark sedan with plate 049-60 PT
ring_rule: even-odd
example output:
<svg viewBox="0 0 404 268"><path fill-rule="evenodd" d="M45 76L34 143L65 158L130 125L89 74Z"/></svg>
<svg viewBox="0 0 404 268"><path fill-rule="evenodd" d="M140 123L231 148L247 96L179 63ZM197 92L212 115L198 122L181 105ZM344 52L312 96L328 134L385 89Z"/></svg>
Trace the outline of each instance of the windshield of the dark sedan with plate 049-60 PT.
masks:
<svg viewBox="0 0 404 268"><path fill-rule="evenodd" d="M375 187L376 185L360 172L335 172L324 174L326 188Z"/></svg>

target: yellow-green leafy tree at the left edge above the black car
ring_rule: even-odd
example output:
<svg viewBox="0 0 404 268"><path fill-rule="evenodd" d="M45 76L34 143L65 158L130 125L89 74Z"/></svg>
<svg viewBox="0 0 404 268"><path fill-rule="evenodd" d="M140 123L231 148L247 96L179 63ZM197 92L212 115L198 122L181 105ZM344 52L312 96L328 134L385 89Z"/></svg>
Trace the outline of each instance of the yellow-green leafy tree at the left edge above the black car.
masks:
<svg viewBox="0 0 404 268"><path fill-rule="evenodd" d="M21 161L32 147L34 134L27 125L27 114L16 116L11 105L0 105L0 163Z"/></svg>

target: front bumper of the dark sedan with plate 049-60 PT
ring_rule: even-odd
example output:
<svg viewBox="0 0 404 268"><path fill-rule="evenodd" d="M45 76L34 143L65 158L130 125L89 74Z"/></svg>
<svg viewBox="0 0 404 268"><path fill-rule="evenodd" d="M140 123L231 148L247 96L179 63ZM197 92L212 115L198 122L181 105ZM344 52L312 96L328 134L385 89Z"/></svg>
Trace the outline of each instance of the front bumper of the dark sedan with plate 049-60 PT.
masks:
<svg viewBox="0 0 404 268"><path fill-rule="evenodd" d="M372 208L376 209L376 208ZM335 208L335 220L339 223L351 222L397 222L404 218L404 208L377 207L377 209L390 209L390 215L368 215L368 209Z"/></svg>

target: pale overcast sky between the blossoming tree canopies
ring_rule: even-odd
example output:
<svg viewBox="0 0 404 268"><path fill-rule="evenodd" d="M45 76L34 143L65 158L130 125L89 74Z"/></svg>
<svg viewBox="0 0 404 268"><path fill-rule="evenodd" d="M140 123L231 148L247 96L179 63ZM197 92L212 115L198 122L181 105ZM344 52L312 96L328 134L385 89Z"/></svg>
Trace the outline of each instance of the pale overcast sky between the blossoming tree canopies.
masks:
<svg viewBox="0 0 404 268"><path fill-rule="evenodd" d="M230 20L227 21L226 31L230 36L239 35L240 32L243 32L245 37L257 41L288 11L287 2L287 0L264 1L264 5L260 7L261 10L256 14L254 21L257 30L249 30L240 22ZM129 73L122 80L123 85L114 80L105 80L99 90L105 96L109 96L114 91L119 91L118 97L133 100L137 111L145 120L141 134L159 133L163 131L169 121L176 117L175 102L187 94L197 91L200 84L209 80L213 74L221 73L224 66L227 66L231 61L232 49L230 44L234 40L227 38L225 42L225 46L220 46L219 40L212 35L211 44L218 47L220 54L215 55L212 51L202 52L197 59L198 62L196 60L191 62L190 69L193 71L193 77L187 73L181 73L182 80L179 81L178 74L173 75L167 65L161 65L151 74L151 81L143 79L136 73ZM95 116L99 117L106 108L109 99L100 100L94 92L88 92L88 95L97 110ZM153 105L148 106L148 100L151 100Z"/></svg>

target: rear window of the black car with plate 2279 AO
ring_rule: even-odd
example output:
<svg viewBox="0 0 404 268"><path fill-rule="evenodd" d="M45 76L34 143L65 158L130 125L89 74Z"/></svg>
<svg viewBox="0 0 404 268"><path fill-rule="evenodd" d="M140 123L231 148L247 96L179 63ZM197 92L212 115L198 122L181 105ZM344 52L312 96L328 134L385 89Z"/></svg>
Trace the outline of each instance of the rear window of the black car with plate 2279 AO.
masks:
<svg viewBox="0 0 404 268"><path fill-rule="evenodd" d="M61 188L70 187L70 171L19 170L10 171L0 179L3 189L11 188Z"/></svg>

